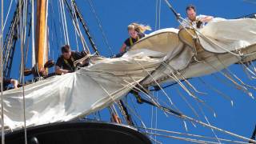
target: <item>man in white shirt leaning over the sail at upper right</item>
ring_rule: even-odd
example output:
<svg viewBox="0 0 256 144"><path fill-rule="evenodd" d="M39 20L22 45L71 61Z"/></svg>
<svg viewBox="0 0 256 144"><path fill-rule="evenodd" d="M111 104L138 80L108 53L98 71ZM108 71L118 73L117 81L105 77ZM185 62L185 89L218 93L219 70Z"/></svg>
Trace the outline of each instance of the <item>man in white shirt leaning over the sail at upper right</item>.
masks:
<svg viewBox="0 0 256 144"><path fill-rule="evenodd" d="M193 5L186 6L186 15L187 18L185 18L184 21L182 21L182 25L179 26L181 29L182 27L191 27L194 28L202 28L206 25L207 22L210 22L214 17L207 16L207 15L198 15L196 13L196 8Z"/></svg>

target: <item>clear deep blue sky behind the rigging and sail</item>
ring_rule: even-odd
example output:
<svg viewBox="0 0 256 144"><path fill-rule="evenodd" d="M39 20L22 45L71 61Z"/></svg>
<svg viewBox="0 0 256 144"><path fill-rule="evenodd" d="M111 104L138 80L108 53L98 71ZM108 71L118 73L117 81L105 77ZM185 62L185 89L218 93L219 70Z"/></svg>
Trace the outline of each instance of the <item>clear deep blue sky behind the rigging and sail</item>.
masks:
<svg viewBox="0 0 256 144"><path fill-rule="evenodd" d="M55 0L53 1L56 2ZM194 4L195 6L197 6L198 14L212 15L214 17L221 18L238 18L242 15L252 14L256 12L256 5L249 2L244 2L242 0L180 0L170 2L172 6L174 6L174 9L177 10L183 18L186 17L185 8L188 4ZM82 15L84 16L86 22L88 23L88 26L90 27L90 32L94 37L94 41L98 46L98 50L102 55L110 56L110 50L108 50L107 46L103 42L104 40L102 38L101 31L99 30L98 23L94 18L94 14L90 10L88 1L78 0L77 3L82 10ZM162 5L160 15L160 28L178 27L178 22L175 20L174 14L172 14L172 12L168 9L163 0L161 1L161 3ZM5 5L7 5L5 6L6 15L7 7L9 6L9 4L6 3ZM126 26L130 24L130 22L147 24L150 25L153 30L157 29L155 28L155 5L156 0L94 0L94 8L98 14L98 18L102 22L103 30L106 33L107 40L114 54L118 53L120 46L122 46L122 42L124 42L124 40L128 37ZM54 3L53 7L54 13L50 13L51 18L49 20L49 25L51 25L50 22L54 22L53 18L55 18L57 27L59 28L60 25L58 25L58 5ZM74 29L70 22L68 22L68 27L70 30L70 46L73 47L73 50L76 50ZM5 31L7 30L7 28L8 27L6 27ZM54 33L50 32L50 34ZM53 43L50 44L50 58L54 58L55 60L58 57L58 47L56 46L56 42L58 41L60 44L64 44L64 42L61 40L61 33L58 32L58 36L59 38L53 37ZM81 45L79 45L79 47L81 50ZM13 78L18 78L17 71L18 63L20 62L19 59L20 55L17 52L15 54L13 65L14 72L11 74L11 77ZM27 63L27 66L30 66L30 62ZM255 80L250 80L246 77L246 74L242 70L242 66L230 66L230 70L234 72L234 74L237 74L239 78L242 78L244 82L255 86ZM190 82L193 83L193 85L198 90L207 93L206 95L198 94L198 97L205 100L207 106L210 106L216 112L217 118L214 118L212 111L209 110L207 106L202 106L202 110L206 114L207 118L209 118L210 123L214 126L218 126L225 130L230 130L236 134L241 134L245 137L250 137L256 124L255 100L247 96L241 90L236 90L232 86L227 86L226 84L221 83L218 78L227 81L227 79L224 78L222 74L214 74L202 77L203 81L214 86L216 89L221 90L226 95L229 95L230 98L234 101L234 106L230 105L230 100L227 100L226 98L223 98L220 94L214 92L213 90L210 90L206 85L200 82L200 79L193 78L190 80ZM182 91L179 86L171 86L170 88L166 89L166 92L170 94L175 104L180 110L182 110L182 112L184 112L184 114L195 118L190 108L186 105L186 102L184 102L184 100L182 100L182 98L179 96L177 90ZM251 90L251 92L254 95L256 94L255 90ZM189 98L188 95L185 94L183 91L181 93L184 94L186 98L188 98L192 106L194 106L198 113L200 113L200 109L198 108L194 100L192 98ZM162 92L154 93L154 95L158 95L158 98L162 98L163 101L166 101L166 98L164 97ZM138 113L142 116L142 119L146 122L147 126L150 127L152 107L138 104L135 104L135 106L138 107ZM156 112L154 111L154 123L157 119L157 128L186 132L182 120L174 117L166 118L166 116L162 114L160 110L157 111L157 118L155 115ZM202 114L200 115L201 120L205 122ZM106 116L106 118L103 119L108 120L108 117ZM199 125L197 126L197 128L194 128L194 126L191 125L190 122L187 122L187 127L189 129L188 133L203 134L213 137L213 134L209 129L206 129ZM225 134L218 132L216 133L220 138L230 138ZM164 143L186 143L167 138L159 139Z"/></svg>

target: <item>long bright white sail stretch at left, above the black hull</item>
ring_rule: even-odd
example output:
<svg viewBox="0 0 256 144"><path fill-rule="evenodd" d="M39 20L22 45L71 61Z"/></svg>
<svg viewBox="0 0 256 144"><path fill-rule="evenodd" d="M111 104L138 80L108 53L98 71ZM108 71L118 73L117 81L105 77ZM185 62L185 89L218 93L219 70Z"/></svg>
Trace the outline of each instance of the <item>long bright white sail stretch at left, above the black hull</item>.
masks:
<svg viewBox="0 0 256 144"><path fill-rule="evenodd" d="M150 58L152 54L157 58ZM128 58L91 58L90 66L74 73L25 86L26 126L69 121L109 106L145 78L146 71L154 71L163 54L139 50L127 55ZM4 118L10 129L22 128L22 88L4 92Z"/></svg>

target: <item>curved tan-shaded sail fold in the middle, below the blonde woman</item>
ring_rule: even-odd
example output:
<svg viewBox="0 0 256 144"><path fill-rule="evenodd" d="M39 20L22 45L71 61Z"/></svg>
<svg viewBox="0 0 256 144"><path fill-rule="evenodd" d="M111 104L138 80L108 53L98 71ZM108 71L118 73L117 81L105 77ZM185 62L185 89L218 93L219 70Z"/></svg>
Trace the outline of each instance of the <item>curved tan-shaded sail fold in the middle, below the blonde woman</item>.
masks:
<svg viewBox="0 0 256 144"><path fill-rule="evenodd" d="M179 40L178 30L174 28L158 30L147 35L146 38L132 46L130 52L144 49L166 54L162 65L143 80L142 85L144 86L149 86L155 81L161 82L163 79L168 79L170 74L184 70L193 57L192 50Z"/></svg>

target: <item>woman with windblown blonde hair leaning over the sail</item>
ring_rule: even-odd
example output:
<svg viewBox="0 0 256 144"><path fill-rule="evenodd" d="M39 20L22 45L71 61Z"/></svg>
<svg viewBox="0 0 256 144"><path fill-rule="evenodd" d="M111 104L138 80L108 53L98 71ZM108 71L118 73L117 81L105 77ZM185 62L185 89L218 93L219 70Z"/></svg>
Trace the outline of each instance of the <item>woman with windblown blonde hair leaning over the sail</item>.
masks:
<svg viewBox="0 0 256 144"><path fill-rule="evenodd" d="M146 30L151 30L150 26L144 26L138 23L131 23L128 27L128 34L130 38L127 38L126 41L122 44L120 49L121 53L126 52L130 46L132 46L135 42L138 42L140 38L145 37L144 32Z"/></svg>

